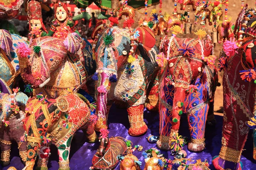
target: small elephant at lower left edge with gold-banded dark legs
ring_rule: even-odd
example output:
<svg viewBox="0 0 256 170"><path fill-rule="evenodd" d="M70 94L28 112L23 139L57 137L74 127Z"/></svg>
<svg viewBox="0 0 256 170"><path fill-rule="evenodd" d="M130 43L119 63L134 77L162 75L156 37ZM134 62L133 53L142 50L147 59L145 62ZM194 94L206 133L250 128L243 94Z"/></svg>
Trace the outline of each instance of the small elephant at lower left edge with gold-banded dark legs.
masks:
<svg viewBox="0 0 256 170"><path fill-rule="evenodd" d="M0 147L1 164L5 167L10 164L12 141L17 142L20 157L25 164L27 158L26 142L21 142L24 135L22 119L25 118L25 105L28 96L14 89L12 93L3 79L0 79Z"/></svg>

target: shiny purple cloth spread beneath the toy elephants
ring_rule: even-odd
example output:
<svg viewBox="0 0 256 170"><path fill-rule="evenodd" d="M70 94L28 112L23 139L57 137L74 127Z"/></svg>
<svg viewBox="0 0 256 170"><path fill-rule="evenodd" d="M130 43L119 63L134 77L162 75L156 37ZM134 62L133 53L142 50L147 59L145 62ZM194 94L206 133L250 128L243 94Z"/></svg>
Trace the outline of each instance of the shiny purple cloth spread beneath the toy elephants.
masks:
<svg viewBox="0 0 256 170"><path fill-rule="evenodd" d="M184 150L187 151L188 156L186 158L192 158L194 160L207 159L210 164L210 169L215 168L212 165L212 157L218 155L221 149L221 129L222 129L222 116L215 116L217 124L215 127L207 127L206 129L206 149L201 153L191 153L187 150L187 145ZM139 137L132 137L128 135L128 115L126 109L116 108L115 105L112 106L110 110L110 115L108 118L109 125L109 137L111 136L122 136L125 139L131 140L133 146L140 144L143 146L143 151L145 149L150 149L151 147L156 147L156 144L150 144L147 142L146 137L150 134L159 135L159 115L158 113L144 111L144 121L148 125L148 131L145 135ZM189 129L187 125L186 115L182 115L180 124L180 135L189 136ZM97 133L99 135L99 133ZM70 170L88 170L92 165L93 155L99 147L99 142L95 144L89 144L85 142L85 136L81 130L76 132L75 137L71 143L70 149ZM244 151L241 156L241 161L244 165L244 170L256 170L256 161L253 160L253 138L252 132L249 133L247 142L244 147ZM161 151L165 158L172 159L171 151ZM142 161L142 170L145 166L145 161L142 156L142 152L135 151L133 153L137 158ZM8 166L16 167L17 170L23 169L23 164L20 161L19 153L17 150L17 144L13 144L11 152L11 164ZM0 167L0 170L7 170L8 167ZM35 167L34 167L35 169ZM58 152L54 145L51 145L51 155L48 162L49 170L58 170ZM116 167L119 170L119 166Z"/></svg>

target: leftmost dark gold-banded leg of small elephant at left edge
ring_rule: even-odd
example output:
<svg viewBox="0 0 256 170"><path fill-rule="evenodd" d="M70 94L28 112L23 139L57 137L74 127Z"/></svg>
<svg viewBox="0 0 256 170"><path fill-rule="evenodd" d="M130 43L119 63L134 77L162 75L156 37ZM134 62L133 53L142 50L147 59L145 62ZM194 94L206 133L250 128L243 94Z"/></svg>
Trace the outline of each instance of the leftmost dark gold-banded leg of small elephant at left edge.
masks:
<svg viewBox="0 0 256 170"><path fill-rule="evenodd" d="M6 167L10 164L11 139L9 136L9 127L2 126L0 129L0 147L1 147L1 164Z"/></svg>

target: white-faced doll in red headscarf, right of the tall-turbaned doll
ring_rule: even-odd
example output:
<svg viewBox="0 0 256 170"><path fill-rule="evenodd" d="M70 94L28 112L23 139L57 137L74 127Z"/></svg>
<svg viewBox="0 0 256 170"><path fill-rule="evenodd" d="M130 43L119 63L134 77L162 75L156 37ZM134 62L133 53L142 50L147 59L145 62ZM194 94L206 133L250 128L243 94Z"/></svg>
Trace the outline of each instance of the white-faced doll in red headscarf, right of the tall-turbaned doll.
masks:
<svg viewBox="0 0 256 170"><path fill-rule="evenodd" d="M55 19L52 20L52 26L48 35L57 38L66 38L68 34L79 32L76 30L75 24L69 17L66 3L55 3L54 5Z"/></svg>

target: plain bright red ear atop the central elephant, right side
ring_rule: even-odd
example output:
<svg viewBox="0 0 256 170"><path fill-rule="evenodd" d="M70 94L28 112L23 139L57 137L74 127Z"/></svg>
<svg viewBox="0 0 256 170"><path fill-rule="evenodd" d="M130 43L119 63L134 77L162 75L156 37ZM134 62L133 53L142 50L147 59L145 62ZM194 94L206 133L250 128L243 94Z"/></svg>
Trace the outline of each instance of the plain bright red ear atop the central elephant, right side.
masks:
<svg viewBox="0 0 256 170"><path fill-rule="evenodd" d="M142 43L143 46L146 46L148 48L154 47L156 43L156 38L154 36L154 32L150 28L144 26L139 27L135 30L135 34L139 34L138 42Z"/></svg>

